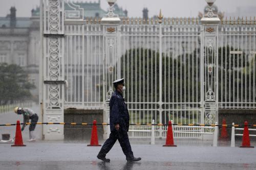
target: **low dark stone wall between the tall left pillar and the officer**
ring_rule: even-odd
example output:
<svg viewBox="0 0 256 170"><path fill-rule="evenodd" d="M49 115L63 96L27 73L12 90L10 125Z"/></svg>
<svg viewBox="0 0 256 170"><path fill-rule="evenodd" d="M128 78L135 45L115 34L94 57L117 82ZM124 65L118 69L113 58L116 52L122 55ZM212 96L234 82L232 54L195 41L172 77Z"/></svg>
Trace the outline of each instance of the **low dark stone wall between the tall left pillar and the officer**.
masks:
<svg viewBox="0 0 256 170"><path fill-rule="evenodd" d="M103 123L103 110L83 110L83 109L65 109L65 123L88 123L92 124L93 120L97 123ZM103 139L103 127L97 126L98 138ZM89 140L91 139L92 126L83 125L65 125L65 140Z"/></svg>

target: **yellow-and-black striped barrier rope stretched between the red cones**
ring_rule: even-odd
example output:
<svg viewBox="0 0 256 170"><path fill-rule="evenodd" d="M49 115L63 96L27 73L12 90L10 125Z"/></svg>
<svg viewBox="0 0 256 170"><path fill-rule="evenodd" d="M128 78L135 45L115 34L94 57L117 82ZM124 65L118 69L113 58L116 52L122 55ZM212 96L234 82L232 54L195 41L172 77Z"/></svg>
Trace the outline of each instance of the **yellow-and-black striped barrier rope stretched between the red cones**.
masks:
<svg viewBox="0 0 256 170"><path fill-rule="evenodd" d="M0 124L0 126L16 126L17 124ZM88 124L88 123L20 123L19 125L84 125L84 126L92 126L92 125L110 125L107 123L102 124ZM174 126L198 126L198 127L245 127L245 125L207 125L207 124L172 124ZM168 126L168 124L130 124L130 126ZM247 125L248 127L256 127L256 125Z"/></svg>

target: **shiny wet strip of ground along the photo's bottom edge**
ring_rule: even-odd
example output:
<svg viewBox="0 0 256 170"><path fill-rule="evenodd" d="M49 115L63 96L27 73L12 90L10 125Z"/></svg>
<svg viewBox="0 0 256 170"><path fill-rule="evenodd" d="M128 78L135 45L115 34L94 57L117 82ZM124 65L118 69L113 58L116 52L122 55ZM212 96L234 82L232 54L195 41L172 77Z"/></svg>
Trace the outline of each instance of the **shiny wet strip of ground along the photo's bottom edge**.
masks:
<svg viewBox="0 0 256 170"><path fill-rule="evenodd" d="M0 162L0 169L99 169L99 170L132 170L132 169L255 169L255 164L238 163L207 163L207 162L161 162L161 161L5 161Z"/></svg>

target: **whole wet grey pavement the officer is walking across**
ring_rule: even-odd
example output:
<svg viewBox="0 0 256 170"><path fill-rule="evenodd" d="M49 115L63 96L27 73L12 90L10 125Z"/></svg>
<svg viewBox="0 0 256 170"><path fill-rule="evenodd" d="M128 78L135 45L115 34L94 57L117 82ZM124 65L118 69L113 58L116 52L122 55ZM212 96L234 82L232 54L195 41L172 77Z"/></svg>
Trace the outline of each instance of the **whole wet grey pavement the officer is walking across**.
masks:
<svg viewBox="0 0 256 170"><path fill-rule="evenodd" d="M135 156L142 160L127 163L117 142L106 156L111 162L96 158L100 147L87 143L39 141L26 147L0 144L0 169L256 169L255 148L230 148L179 145L132 144Z"/></svg>

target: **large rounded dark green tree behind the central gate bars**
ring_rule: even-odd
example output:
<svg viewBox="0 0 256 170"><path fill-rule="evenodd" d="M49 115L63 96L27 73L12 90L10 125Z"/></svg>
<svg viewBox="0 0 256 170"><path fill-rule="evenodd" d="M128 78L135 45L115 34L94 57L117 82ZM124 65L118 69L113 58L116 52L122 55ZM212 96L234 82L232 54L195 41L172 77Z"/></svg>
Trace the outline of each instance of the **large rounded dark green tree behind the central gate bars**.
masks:
<svg viewBox="0 0 256 170"><path fill-rule="evenodd" d="M200 78L200 57L196 53L195 49L193 53L177 58L162 54L162 101L191 102L193 98L194 101L197 100L195 93L197 90L200 93L200 82L197 86L194 82ZM159 101L159 56L160 54L154 50L137 48L126 51L121 57L121 65L124 63L124 66L121 66L121 75L124 75L125 82L129 82L129 89L133 88L129 93L125 91L129 102ZM190 99L187 97L188 94L191 96ZM199 100L200 95L198 96Z"/></svg>

